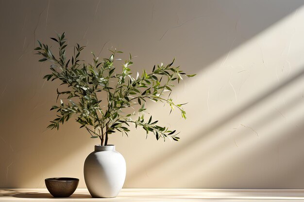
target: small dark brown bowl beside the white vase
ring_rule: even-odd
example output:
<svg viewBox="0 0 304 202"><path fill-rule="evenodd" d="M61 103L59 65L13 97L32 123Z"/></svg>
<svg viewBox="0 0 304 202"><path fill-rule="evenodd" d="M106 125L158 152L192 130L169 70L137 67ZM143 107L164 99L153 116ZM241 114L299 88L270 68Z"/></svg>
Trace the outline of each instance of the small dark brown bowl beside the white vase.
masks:
<svg viewBox="0 0 304 202"><path fill-rule="evenodd" d="M79 179L71 177L55 177L45 179L45 185L53 197L69 197L74 193Z"/></svg>

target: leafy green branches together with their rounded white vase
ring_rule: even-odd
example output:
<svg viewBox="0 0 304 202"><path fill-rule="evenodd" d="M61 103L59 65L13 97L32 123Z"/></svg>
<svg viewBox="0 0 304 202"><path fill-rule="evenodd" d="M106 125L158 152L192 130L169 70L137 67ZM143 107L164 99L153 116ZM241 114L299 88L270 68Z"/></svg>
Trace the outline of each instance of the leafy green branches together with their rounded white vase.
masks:
<svg viewBox="0 0 304 202"><path fill-rule="evenodd" d="M73 116L91 138L100 140L100 144L95 145L95 151L84 162L85 184L93 197L116 197L125 180L126 164L123 156L115 151L115 146L108 144L109 136L115 132L128 136L129 126L134 124L136 128L142 127L147 135L153 134L156 140L170 138L178 141L175 130L160 126L152 116L144 115L145 103L147 100L167 103L171 110L178 109L186 119L186 112L182 108L185 104L174 104L170 98L173 82L179 82L186 74L179 67L172 66L173 60L168 65L154 65L151 73L143 70L142 74L137 72L132 77L131 54L122 63L122 71L118 72L114 63L120 60L116 56L121 51L110 50L110 57L102 60L92 53L93 62L85 63L80 60L84 47L79 44L74 46L73 56L67 59L65 33L51 39L59 45L58 56L54 56L51 48L39 41L36 54L42 56L39 62L51 62L51 74L44 78L51 81L59 79L66 90L57 89L59 103L51 107L51 110L57 111L57 117L48 128L58 130L60 124ZM165 97L166 92L169 93ZM102 93L106 94L104 100L101 99ZM136 105L140 107L133 108ZM130 108L134 112L126 113L126 109Z"/></svg>

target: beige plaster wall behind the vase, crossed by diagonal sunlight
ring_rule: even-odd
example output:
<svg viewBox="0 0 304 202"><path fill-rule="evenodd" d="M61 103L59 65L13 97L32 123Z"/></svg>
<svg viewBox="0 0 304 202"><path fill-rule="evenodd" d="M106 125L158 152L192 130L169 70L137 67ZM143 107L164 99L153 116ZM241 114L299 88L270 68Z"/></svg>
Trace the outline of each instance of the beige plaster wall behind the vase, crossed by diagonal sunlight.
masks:
<svg viewBox="0 0 304 202"><path fill-rule="evenodd" d="M116 47L134 71L176 64L190 74L175 88L188 119L148 103L180 142L113 134L127 161L124 187L304 188L304 1L1 0L0 187L45 187L80 178L97 140L74 122L46 130L57 82L44 82L35 40L107 57ZM70 50L70 49L69 49ZM125 54L127 57L127 54Z"/></svg>

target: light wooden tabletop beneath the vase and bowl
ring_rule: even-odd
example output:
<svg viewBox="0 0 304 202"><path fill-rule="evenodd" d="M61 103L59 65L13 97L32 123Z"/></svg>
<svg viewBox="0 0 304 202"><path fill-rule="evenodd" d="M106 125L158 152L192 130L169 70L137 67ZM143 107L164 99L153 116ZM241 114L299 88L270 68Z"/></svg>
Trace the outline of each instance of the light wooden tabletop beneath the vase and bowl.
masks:
<svg viewBox="0 0 304 202"><path fill-rule="evenodd" d="M304 189L124 188L118 197L92 198L79 188L68 198L53 198L47 189L0 189L0 202L304 202Z"/></svg>

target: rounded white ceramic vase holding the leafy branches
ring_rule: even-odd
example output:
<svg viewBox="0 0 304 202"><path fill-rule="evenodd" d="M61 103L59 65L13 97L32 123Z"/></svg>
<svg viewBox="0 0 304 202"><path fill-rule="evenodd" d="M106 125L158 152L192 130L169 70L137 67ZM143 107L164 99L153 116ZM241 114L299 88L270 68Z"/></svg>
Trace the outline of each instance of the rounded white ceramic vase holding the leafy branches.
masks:
<svg viewBox="0 0 304 202"><path fill-rule="evenodd" d="M126 161L115 145L95 145L84 161L84 181L92 197L113 198L126 178Z"/></svg>

